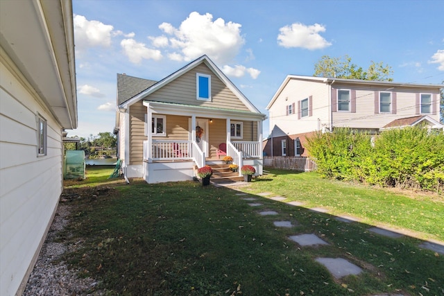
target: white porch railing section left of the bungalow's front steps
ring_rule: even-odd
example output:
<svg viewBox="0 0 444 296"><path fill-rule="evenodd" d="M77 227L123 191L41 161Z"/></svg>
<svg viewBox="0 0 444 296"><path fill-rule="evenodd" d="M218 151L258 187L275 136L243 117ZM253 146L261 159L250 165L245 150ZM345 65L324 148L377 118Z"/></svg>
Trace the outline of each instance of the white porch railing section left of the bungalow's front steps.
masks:
<svg viewBox="0 0 444 296"><path fill-rule="evenodd" d="M151 149L148 149L148 141L144 141L144 160L147 159L192 159L191 141L153 140Z"/></svg>

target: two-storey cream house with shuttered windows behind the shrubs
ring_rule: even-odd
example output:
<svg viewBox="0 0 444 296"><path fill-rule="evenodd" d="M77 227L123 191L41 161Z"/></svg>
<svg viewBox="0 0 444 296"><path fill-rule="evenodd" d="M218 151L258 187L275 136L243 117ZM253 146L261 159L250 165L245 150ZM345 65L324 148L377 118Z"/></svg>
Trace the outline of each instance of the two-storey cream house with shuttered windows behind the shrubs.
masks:
<svg viewBox="0 0 444 296"><path fill-rule="evenodd" d="M266 107L271 135L264 141L264 153L307 156L307 137L334 128L370 134L416 124L443 129L439 123L443 87L289 75Z"/></svg>

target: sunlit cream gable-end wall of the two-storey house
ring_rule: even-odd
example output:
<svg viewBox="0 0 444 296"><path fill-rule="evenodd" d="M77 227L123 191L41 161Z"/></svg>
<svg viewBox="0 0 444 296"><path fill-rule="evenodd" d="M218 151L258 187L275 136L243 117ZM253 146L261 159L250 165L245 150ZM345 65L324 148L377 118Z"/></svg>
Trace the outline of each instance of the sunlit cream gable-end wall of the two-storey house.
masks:
<svg viewBox="0 0 444 296"><path fill-rule="evenodd" d="M274 128L275 131L284 130L287 134L300 134L318 130L318 125L321 126L320 129L322 129L323 124L330 127L328 92L328 85L323 82L289 80L269 110L270 131ZM309 98L309 96L312 99L312 115L298 119L298 101ZM286 106L292 103L295 103L295 112L286 115ZM318 119L320 119L319 123ZM273 134L273 137L279 137L280 135L283 134L276 133Z"/></svg>

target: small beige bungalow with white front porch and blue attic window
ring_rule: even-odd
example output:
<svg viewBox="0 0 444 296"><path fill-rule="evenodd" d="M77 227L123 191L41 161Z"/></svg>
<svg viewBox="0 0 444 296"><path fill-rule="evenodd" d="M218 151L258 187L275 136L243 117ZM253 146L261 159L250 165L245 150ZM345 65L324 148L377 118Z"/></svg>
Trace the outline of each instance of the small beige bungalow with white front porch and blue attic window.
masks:
<svg viewBox="0 0 444 296"><path fill-rule="evenodd" d="M225 155L260 175L265 118L206 55L160 81L117 75L114 133L126 177L192 180Z"/></svg>

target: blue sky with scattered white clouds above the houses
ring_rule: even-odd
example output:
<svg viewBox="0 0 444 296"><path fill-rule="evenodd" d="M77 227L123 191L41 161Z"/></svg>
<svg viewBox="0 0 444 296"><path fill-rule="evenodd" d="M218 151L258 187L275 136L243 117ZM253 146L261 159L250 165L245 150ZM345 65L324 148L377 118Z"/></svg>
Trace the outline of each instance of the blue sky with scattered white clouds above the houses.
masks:
<svg viewBox="0 0 444 296"><path fill-rule="evenodd" d="M393 81L444 81L444 1L73 0L78 128L112 132L117 73L161 80L207 55L257 109L287 75L323 55L393 70ZM269 133L264 121L264 137Z"/></svg>

